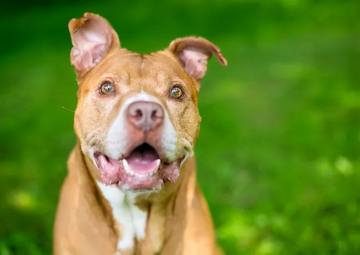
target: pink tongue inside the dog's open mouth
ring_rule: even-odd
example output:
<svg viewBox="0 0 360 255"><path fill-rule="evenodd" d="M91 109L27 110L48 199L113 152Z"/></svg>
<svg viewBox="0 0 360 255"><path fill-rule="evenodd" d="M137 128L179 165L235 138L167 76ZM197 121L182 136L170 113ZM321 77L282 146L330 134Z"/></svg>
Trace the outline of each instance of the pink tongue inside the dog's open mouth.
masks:
<svg viewBox="0 0 360 255"><path fill-rule="evenodd" d="M134 173L148 174L155 170L157 163L157 155L150 151L133 152L126 158L127 163Z"/></svg>

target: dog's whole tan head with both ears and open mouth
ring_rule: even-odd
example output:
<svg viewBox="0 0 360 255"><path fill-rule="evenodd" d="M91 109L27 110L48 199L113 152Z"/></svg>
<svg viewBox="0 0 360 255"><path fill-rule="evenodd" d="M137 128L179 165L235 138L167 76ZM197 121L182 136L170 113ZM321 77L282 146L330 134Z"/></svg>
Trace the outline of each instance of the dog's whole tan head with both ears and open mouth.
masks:
<svg viewBox="0 0 360 255"><path fill-rule="evenodd" d="M94 176L123 190L175 182L198 137L198 82L211 42L187 37L150 55L120 48L116 32L95 14L72 19L71 63L77 73L75 133Z"/></svg>

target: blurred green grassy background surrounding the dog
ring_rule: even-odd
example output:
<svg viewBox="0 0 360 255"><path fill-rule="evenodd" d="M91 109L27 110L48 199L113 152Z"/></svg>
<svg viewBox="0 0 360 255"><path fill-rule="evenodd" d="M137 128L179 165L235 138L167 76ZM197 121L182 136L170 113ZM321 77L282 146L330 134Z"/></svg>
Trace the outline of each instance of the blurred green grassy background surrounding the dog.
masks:
<svg viewBox="0 0 360 255"><path fill-rule="evenodd" d="M198 180L226 254L360 254L359 1L1 1L0 254L50 254L75 144L67 24L107 18L150 53L217 44Z"/></svg>

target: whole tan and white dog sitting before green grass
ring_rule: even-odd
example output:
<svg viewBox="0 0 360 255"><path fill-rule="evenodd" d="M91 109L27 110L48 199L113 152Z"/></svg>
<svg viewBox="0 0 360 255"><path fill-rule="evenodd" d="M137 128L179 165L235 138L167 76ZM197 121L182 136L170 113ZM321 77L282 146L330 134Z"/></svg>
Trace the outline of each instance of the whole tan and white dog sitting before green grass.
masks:
<svg viewBox="0 0 360 255"><path fill-rule="evenodd" d="M156 53L120 47L99 15L69 22L79 86L77 143L54 225L54 254L221 254L195 180L197 94L211 42Z"/></svg>

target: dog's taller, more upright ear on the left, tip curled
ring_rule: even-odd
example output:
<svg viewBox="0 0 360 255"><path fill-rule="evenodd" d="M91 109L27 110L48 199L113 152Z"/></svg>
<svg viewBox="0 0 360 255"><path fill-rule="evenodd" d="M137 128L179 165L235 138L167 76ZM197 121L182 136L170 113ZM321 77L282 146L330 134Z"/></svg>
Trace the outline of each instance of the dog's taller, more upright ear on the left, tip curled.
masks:
<svg viewBox="0 0 360 255"><path fill-rule="evenodd" d="M69 31L73 45L70 59L78 76L84 75L112 49L120 47L117 33L111 25L93 13L71 19Z"/></svg>

